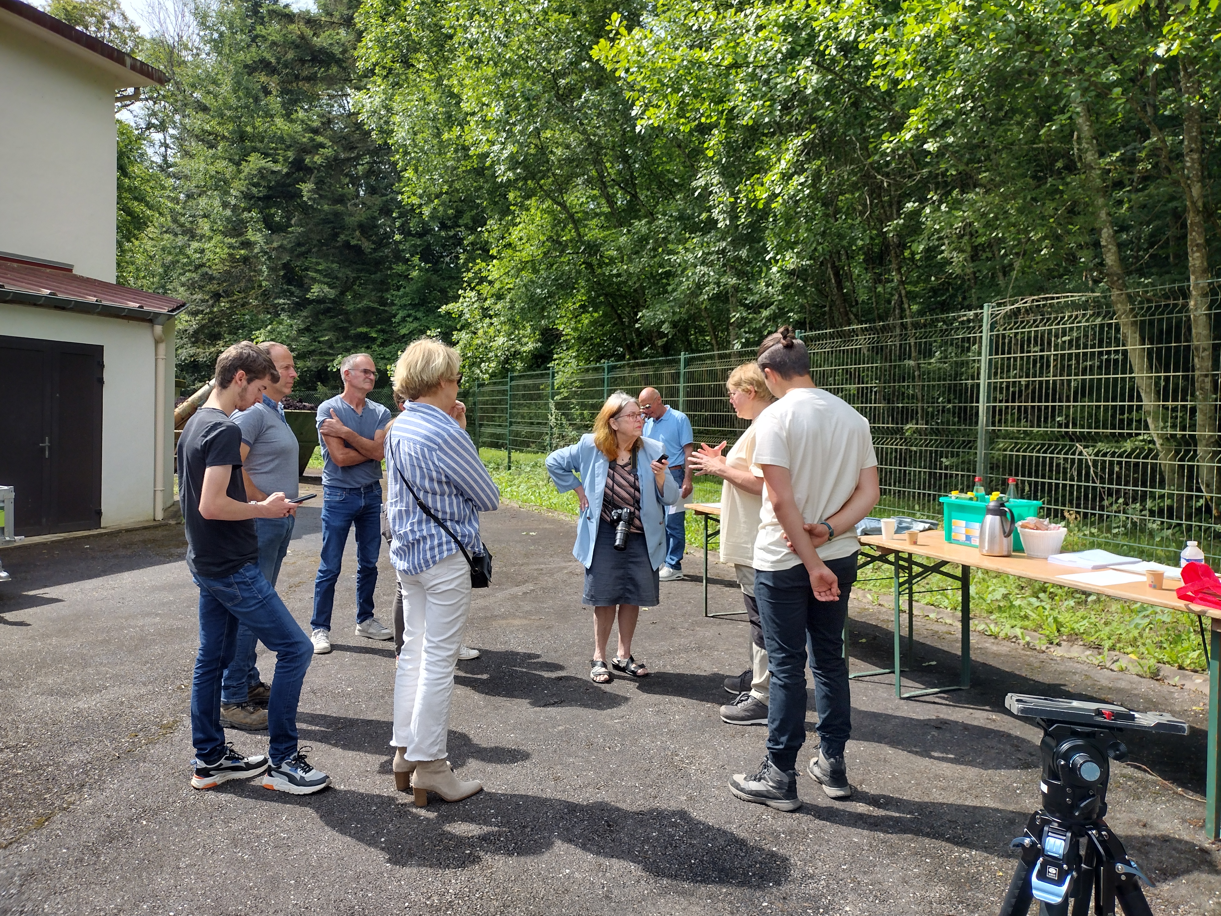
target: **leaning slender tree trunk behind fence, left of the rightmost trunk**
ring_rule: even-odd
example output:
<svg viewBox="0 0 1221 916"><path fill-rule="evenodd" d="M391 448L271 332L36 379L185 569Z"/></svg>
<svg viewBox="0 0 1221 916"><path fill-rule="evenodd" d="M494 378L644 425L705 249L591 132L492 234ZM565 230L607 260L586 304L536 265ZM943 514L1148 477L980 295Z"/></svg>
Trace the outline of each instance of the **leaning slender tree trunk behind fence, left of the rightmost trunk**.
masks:
<svg viewBox="0 0 1221 916"><path fill-rule="evenodd" d="M1074 103L1077 115L1077 138L1079 140L1082 167L1087 186L1094 203L1094 219L1098 221L1099 242L1103 248L1103 263L1106 265L1106 285L1111 287L1111 305L1120 322L1123 346L1132 363L1137 391L1140 392L1140 404L1144 412L1149 435L1158 449L1158 464L1166 482L1166 490L1175 503L1175 515L1183 518L1187 509L1186 493L1182 486L1182 469L1171 436L1166 432L1166 415L1161 404L1158 380L1154 376L1153 360L1140 336L1140 324L1136 309L1128 298L1127 275L1120 260L1120 245L1115 239L1115 226L1111 222L1111 210L1103 184L1103 166L1098 156L1098 138L1094 134L1094 121L1084 100Z"/></svg>

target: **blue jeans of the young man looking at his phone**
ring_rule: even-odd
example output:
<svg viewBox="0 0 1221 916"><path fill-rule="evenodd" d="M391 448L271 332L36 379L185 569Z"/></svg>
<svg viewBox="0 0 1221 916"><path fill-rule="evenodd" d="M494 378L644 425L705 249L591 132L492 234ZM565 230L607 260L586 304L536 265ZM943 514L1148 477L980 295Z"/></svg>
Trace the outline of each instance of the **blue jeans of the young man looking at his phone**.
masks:
<svg viewBox="0 0 1221 916"><path fill-rule="evenodd" d="M297 752L297 702L314 645L259 567L247 563L223 579L194 576L199 586L199 655L190 682L190 739L197 760L212 763L225 752L221 728L221 672L233 661L238 624L245 624L276 653L267 700L271 762Z"/></svg>

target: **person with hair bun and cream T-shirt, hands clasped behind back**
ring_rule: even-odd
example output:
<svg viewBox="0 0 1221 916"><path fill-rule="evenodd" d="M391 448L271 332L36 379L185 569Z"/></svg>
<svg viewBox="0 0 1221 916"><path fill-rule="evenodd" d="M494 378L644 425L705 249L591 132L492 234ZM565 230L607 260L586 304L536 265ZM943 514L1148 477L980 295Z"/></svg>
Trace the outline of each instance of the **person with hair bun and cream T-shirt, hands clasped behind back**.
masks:
<svg viewBox="0 0 1221 916"><path fill-rule="evenodd" d="M734 774L729 790L795 811L807 645L819 735L807 772L829 798L852 795L844 763L852 730L844 622L860 551L855 526L878 502L878 459L869 421L814 386L810 353L791 327L768 335L756 362L778 398L755 423L755 467L764 484L753 567L772 674L768 754L758 772Z"/></svg>

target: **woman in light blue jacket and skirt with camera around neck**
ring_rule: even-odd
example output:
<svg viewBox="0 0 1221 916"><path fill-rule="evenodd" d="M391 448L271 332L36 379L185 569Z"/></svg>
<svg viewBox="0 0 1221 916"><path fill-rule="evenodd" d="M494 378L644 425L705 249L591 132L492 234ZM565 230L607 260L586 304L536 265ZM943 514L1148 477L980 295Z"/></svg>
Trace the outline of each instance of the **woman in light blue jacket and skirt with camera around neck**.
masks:
<svg viewBox="0 0 1221 916"><path fill-rule="evenodd" d="M656 607L658 569L665 561L663 506L679 501L662 443L641 436L645 415L639 402L614 392L598 410L593 432L547 456L547 473L562 493L576 491L581 517L573 556L585 567L581 603L593 608L593 658L590 680L609 684L606 649L619 620L619 652L610 667L631 678L648 669L631 655L642 605ZM580 475L578 478L578 475ZM625 526L617 537L617 528Z"/></svg>

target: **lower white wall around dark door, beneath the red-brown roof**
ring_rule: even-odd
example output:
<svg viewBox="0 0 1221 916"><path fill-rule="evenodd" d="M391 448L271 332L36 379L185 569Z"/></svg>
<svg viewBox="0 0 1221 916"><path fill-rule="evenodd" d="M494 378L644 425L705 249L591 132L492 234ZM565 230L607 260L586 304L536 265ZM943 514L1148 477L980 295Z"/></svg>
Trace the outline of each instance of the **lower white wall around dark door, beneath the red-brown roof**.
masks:
<svg viewBox="0 0 1221 916"><path fill-rule="evenodd" d="M153 518L153 326L148 321L78 315L0 303L0 335L105 347L101 390L101 526ZM173 502L173 321L166 325L165 506Z"/></svg>

